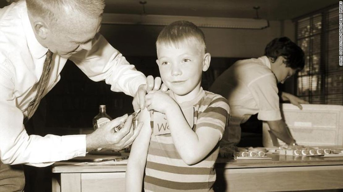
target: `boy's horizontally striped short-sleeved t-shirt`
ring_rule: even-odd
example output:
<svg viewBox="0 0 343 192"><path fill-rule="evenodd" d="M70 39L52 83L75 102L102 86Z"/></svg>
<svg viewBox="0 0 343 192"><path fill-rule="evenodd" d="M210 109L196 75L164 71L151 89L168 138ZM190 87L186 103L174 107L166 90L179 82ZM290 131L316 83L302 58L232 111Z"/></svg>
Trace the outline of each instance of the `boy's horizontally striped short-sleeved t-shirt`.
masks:
<svg viewBox="0 0 343 192"><path fill-rule="evenodd" d="M169 95L173 97L173 93L169 92ZM210 127L223 135L229 119L225 98L201 89L194 100L179 105L181 108L194 107L193 131ZM218 151L219 142L202 161L187 165L176 151L170 133L157 136L152 133L145 167L145 191L211 191L216 179L214 164Z"/></svg>

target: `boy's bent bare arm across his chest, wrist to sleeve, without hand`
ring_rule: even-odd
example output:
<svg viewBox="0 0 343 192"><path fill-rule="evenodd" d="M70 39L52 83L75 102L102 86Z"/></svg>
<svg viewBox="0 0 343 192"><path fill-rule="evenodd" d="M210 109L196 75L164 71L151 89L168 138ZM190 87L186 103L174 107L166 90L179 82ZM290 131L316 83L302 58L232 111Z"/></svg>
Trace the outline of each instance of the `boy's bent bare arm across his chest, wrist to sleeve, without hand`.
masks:
<svg viewBox="0 0 343 192"><path fill-rule="evenodd" d="M201 161L220 140L217 129L203 127L194 132L178 105L170 107L166 116L175 148L188 165Z"/></svg>

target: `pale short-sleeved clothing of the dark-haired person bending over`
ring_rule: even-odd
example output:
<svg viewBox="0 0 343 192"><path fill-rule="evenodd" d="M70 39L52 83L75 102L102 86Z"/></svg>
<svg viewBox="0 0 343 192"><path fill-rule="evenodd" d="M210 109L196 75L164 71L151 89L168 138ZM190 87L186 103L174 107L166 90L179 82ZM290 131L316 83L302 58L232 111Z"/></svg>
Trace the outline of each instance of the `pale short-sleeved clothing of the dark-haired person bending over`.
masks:
<svg viewBox="0 0 343 192"><path fill-rule="evenodd" d="M214 81L209 91L222 95L230 105L231 117L222 143L237 144L240 124L251 115L258 113L257 118L263 121L282 119L277 80L267 56L235 62Z"/></svg>

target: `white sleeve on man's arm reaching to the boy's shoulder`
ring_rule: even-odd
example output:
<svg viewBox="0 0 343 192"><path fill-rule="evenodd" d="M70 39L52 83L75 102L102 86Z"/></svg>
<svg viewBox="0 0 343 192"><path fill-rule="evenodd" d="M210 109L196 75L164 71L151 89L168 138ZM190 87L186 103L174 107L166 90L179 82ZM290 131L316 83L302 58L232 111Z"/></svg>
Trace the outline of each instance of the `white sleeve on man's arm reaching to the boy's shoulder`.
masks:
<svg viewBox="0 0 343 192"><path fill-rule="evenodd" d="M138 87L146 84L144 74L130 65L100 34L93 40L92 50L80 51L69 59L93 81L105 80L112 91L134 96Z"/></svg>

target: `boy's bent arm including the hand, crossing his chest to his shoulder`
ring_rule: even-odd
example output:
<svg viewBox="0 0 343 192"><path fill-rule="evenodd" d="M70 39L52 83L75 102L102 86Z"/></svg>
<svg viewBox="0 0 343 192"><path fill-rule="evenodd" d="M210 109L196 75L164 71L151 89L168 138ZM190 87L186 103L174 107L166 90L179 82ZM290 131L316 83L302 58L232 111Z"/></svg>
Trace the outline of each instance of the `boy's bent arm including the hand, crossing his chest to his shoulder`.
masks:
<svg viewBox="0 0 343 192"><path fill-rule="evenodd" d="M220 140L221 133L214 127L206 127L205 125L194 132L188 125L179 105L169 95L158 91L151 91L145 96L145 100L148 110L155 110L166 114L175 148L186 164L191 165L201 161L213 150ZM215 105L215 108L220 106L224 110L229 111L229 106L225 102ZM224 129L225 123L222 124ZM212 125L211 123L208 124L208 126Z"/></svg>

